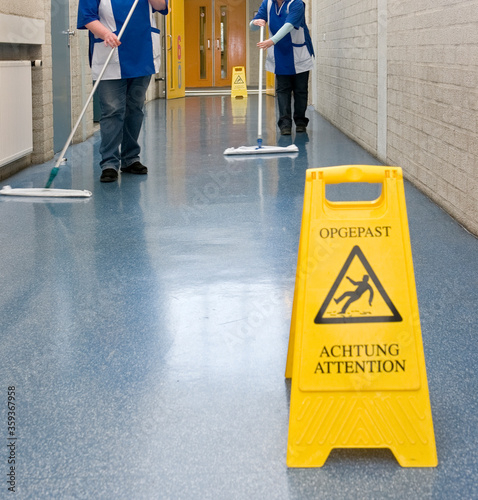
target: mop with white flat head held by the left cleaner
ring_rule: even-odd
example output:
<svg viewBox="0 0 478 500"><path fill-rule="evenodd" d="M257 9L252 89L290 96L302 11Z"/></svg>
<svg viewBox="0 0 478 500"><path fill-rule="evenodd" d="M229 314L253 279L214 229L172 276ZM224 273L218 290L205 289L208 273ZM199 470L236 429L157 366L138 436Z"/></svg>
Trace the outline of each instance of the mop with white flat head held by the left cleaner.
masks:
<svg viewBox="0 0 478 500"><path fill-rule="evenodd" d="M136 5L138 5L139 0L135 0L133 3L133 6L131 7L128 15L126 16L125 22L118 33L118 40L121 40L121 37L123 36L123 32L126 29L126 26L129 23L129 20L131 19L131 16L134 13L134 10L136 9ZM88 105L90 104L91 99L93 98L93 95L101 81L101 78L103 77L104 72L106 71L106 68L111 61L111 58L113 57L113 54L115 52L115 49L117 47L114 47L111 49L111 52L108 54L108 58L106 59L103 68L101 69L101 72L98 76L98 79L96 80L93 90L90 92L90 95L88 96L86 103L83 107L83 110L80 113L80 116L78 120L76 121L75 126L73 127L73 130L71 131L65 146L63 147L58 160L55 163L55 166L52 168L50 172L50 177L48 178L48 181L45 185L44 188L12 188L11 186L4 186L2 189L0 189L0 195L4 196L34 196L34 197L44 197L44 198L89 198L92 196L91 191L85 190L79 190L79 189L53 189L50 188L53 179L56 177L56 174L58 173L58 170L60 169L60 164L65 161L65 153L68 147L70 146L71 141L73 140L73 136L76 133L76 130L78 129L81 120L83 119L84 114L86 113L86 110L88 108Z"/></svg>

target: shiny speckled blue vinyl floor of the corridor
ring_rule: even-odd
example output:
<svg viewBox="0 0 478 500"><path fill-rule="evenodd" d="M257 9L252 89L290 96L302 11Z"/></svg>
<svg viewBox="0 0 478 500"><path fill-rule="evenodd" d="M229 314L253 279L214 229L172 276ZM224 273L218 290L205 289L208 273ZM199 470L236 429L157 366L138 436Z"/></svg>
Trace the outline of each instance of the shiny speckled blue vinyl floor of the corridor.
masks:
<svg viewBox="0 0 478 500"><path fill-rule="evenodd" d="M0 498L478 498L478 241L405 183L438 467L388 450L286 466L284 379L307 168L374 164L313 110L254 146L257 96L146 106L147 176L99 182L99 134L54 187L92 198L0 198ZM43 187L54 161L8 179ZM15 392L9 494L7 392Z"/></svg>

